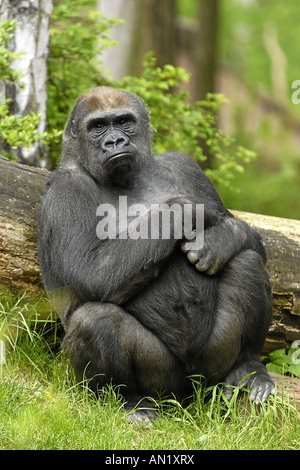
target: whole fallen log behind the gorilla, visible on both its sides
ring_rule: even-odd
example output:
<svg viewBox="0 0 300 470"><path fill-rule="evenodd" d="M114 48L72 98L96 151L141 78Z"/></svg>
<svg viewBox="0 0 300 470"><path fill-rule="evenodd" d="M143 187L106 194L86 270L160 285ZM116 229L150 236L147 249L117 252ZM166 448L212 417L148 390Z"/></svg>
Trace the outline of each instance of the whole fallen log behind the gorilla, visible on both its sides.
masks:
<svg viewBox="0 0 300 470"><path fill-rule="evenodd" d="M42 293L36 259L37 213L49 172L0 157L0 289ZM274 295L264 351L300 339L300 221L233 211L263 236Z"/></svg>

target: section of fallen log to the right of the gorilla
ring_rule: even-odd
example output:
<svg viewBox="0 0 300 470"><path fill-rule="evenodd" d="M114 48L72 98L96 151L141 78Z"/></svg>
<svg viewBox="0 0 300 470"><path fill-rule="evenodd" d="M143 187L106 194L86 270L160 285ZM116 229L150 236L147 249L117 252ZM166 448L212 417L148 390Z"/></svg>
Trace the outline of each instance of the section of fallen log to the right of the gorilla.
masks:
<svg viewBox="0 0 300 470"><path fill-rule="evenodd" d="M265 350L300 340L300 221L232 211L263 237L274 310Z"/></svg>

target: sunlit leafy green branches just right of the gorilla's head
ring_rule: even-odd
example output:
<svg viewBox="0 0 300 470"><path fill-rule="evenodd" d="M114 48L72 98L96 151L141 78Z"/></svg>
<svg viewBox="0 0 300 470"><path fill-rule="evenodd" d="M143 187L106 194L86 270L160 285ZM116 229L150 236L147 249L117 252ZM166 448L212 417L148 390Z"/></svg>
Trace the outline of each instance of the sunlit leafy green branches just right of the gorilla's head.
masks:
<svg viewBox="0 0 300 470"><path fill-rule="evenodd" d="M191 104L187 92L178 91L189 74L180 67L156 67L152 53L146 55L140 77L125 77L117 84L139 95L148 105L152 126L156 131L154 151L158 154L175 150L204 161L199 139L202 139L216 157L215 168L206 170L216 184L229 186L234 172L242 172L243 165L255 158L255 153L238 146L234 139L217 127L217 115L225 98L208 94L206 100Z"/></svg>

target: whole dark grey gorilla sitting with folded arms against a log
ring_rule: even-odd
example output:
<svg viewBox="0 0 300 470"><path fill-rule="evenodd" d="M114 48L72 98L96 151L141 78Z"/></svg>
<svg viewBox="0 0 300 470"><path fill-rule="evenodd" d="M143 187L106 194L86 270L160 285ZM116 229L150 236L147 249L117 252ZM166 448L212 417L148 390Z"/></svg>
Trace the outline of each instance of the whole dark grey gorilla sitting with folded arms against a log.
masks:
<svg viewBox="0 0 300 470"><path fill-rule="evenodd" d="M62 347L95 393L111 383L122 387L125 408L140 403L137 419L155 414L144 397L188 396L194 374L208 385L225 383L227 396L242 383L251 400L265 400L274 385L260 361L272 312L262 240L224 207L190 157L153 155L151 143L136 95L97 87L79 96L38 223L41 274L64 326ZM120 198L136 209L127 214L135 236ZM185 206L191 230L178 236ZM193 243L198 206L202 244ZM174 209L164 223L162 207ZM146 236L138 236L142 228Z"/></svg>

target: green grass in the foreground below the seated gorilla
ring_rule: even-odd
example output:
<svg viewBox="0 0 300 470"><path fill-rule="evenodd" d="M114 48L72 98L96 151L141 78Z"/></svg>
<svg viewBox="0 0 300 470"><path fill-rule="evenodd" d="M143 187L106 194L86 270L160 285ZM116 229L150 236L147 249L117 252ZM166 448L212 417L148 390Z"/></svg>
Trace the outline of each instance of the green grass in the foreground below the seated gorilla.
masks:
<svg viewBox="0 0 300 470"><path fill-rule="evenodd" d="M11 334L6 363L0 365L0 449L300 448L299 414L292 403L275 396L257 407L247 399L243 403L237 388L228 401L218 387L203 391L197 377L189 404L161 399L152 427L129 423L113 387L96 399L84 383L76 383L58 347L58 323L40 320L45 303L7 297L0 302L5 334L23 331L17 339Z"/></svg>

